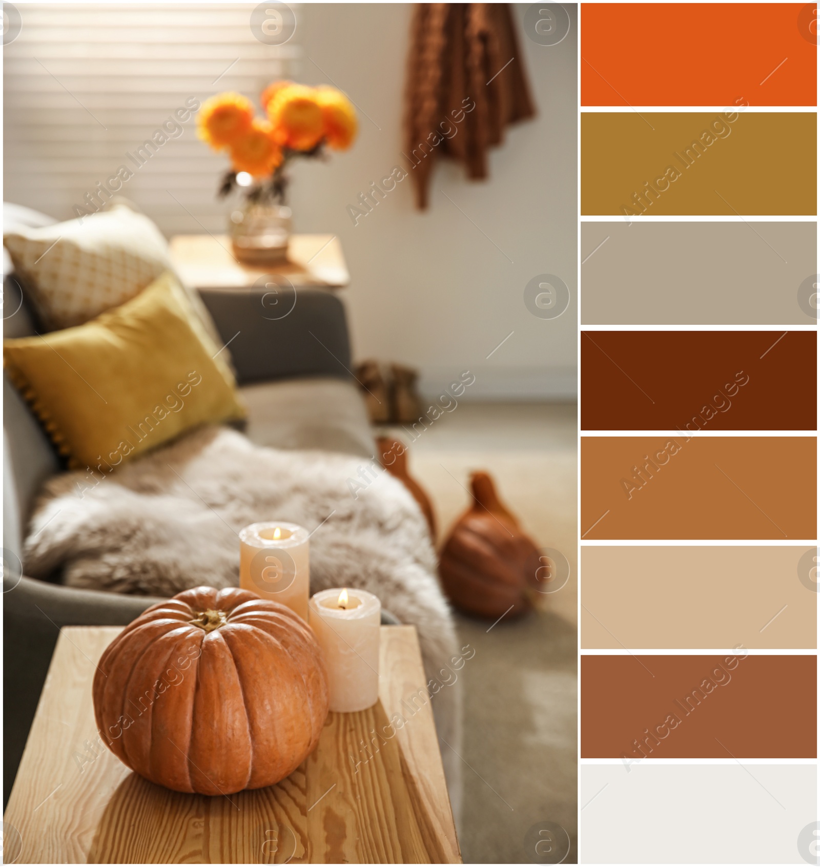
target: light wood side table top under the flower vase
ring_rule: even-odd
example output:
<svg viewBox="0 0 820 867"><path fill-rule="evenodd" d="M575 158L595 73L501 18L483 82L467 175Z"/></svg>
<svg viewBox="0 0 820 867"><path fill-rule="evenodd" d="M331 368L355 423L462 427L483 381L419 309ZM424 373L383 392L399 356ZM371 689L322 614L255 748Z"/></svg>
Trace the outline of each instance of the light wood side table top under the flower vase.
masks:
<svg viewBox="0 0 820 867"><path fill-rule="evenodd" d="M246 289L266 274L287 277L297 288L341 289L350 282L335 235L291 235L288 261L264 266L238 262L227 235L175 235L170 245L179 277L195 289Z"/></svg>

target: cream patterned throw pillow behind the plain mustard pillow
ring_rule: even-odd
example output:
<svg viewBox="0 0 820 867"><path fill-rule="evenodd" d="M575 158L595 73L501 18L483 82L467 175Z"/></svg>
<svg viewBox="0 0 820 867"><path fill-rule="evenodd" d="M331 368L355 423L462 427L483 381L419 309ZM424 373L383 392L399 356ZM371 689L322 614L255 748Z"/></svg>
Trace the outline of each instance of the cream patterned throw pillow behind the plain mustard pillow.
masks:
<svg viewBox="0 0 820 867"><path fill-rule="evenodd" d="M3 235L47 329L81 325L133 298L171 268L168 244L126 205Z"/></svg>

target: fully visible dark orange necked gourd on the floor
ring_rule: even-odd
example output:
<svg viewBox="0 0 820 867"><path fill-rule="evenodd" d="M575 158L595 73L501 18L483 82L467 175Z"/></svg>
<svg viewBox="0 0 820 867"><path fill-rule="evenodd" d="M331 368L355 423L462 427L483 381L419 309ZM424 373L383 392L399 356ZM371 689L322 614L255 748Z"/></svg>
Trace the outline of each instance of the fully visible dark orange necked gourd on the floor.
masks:
<svg viewBox="0 0 820 867"><path fill-rule="evenodd" d="M472 473L472 504L456 521L439 558L439 575L452 604L495 619L530 610L528 587L541 566L535 543L498 499L488 473Z"/></svg>

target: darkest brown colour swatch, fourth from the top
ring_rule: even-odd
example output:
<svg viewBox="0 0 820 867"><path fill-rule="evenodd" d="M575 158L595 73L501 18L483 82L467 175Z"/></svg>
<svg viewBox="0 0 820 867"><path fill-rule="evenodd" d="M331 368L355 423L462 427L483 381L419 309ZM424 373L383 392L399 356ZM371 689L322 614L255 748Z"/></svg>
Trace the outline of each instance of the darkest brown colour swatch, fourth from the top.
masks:
<svg viewBox="0 0 820 867"><path fill-rule="evenodd" d="M816 430L814 331L583 331L584 430Z"/></svg>

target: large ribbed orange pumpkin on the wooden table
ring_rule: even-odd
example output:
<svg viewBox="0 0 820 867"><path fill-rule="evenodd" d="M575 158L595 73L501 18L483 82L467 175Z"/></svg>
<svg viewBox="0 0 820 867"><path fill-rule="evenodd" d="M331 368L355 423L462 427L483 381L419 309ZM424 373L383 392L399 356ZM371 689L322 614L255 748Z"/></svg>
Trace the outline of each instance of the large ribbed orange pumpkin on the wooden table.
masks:
<svg viewBox="0 0 820 867"><path fill-rule="evenodd" d="M94 675L102 739L177 792L272 786L319 742L328 678L309 626L250 590L197 587L153 605Z"/></svg>

